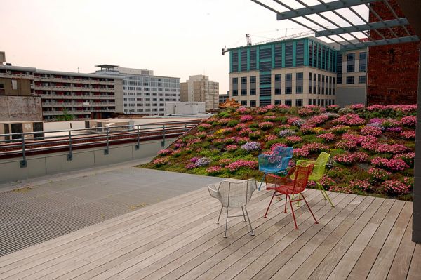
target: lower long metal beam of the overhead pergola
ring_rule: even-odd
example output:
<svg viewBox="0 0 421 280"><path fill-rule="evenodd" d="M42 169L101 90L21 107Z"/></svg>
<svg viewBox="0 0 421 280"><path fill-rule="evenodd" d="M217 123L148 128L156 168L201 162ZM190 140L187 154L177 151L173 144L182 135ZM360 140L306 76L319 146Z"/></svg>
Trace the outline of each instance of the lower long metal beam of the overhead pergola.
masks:
<svg viewBox="0 0 421 280"><path fill-rule="evenodd" d="M403 25L409 25L409 22L406 18L399 18L399 20L384 20L383 22L370 22L364 25L355 25L354 27L349 26L349 27L323 30L323 31L317 32L316 37L328 36L328 35L334 35L334 34L343 34L343 33L349 33L349 32L359 32L359 31L365 31L365 30L371 30L371 29L382 29L382 28L387 28L387 27L396 27L396 26L403 26Z"/></svg>

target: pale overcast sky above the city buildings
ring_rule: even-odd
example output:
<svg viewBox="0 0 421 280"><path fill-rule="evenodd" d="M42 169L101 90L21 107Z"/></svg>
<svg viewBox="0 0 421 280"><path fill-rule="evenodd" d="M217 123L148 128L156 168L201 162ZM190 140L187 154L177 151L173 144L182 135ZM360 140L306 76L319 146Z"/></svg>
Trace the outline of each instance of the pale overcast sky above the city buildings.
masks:
<svg viewBox="0 0 421 280"><path fill-rule="evenodd" d="M222 48L246 45L246 34L257 43L306 31L250 0L0 0L0 11L0 51L13 65L94 72L107 63L180 81L206 74L220 93L229 90Z"/></svg>

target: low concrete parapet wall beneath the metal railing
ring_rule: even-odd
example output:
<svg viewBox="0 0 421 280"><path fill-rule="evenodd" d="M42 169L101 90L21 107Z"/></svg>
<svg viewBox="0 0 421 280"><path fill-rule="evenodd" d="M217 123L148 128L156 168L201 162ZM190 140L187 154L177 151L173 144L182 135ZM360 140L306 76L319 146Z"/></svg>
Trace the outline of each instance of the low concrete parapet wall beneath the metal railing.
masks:
<svg viewBox="0 0 421 280"><path fill-rule="evenodd" d="M164 147L168 147L175 138L167 139ZM67 161L67 152L42 154L27 157L27 167L20 168L21 158L0 160L0 184L25 180L43 175L116 164L133 159L144 159L156 156L161 146L161 140L141 142L140 149L135 149L135 143L113 145L109 147L109 154L104 154L105 147L80 149L73 152L72 161Z"/></svg>

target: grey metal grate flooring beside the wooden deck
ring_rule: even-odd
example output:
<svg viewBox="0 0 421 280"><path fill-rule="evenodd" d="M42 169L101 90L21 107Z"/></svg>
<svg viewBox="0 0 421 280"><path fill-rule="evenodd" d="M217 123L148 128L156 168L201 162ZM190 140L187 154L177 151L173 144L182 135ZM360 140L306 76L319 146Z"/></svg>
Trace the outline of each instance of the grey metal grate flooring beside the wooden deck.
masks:
<svg viewBox="0 0 421 280"><path fill-rule="evenodd" d="M0 193L0 256L221 178L122 168Z"/></svg>

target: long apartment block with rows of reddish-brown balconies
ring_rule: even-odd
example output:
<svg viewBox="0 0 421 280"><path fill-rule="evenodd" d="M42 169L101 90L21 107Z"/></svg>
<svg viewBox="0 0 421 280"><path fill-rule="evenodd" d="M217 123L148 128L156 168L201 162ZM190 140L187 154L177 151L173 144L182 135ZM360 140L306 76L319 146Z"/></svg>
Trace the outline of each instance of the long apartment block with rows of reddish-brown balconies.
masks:
<svg viewBox="0 0 421 280"><path fill-rule="evenodd" d="M123 76L0 65L0 78L29 79L31 95L41 97L44 121L63 114L76 120L105 119L123 112Z"/></svg>

